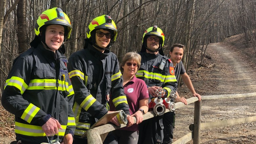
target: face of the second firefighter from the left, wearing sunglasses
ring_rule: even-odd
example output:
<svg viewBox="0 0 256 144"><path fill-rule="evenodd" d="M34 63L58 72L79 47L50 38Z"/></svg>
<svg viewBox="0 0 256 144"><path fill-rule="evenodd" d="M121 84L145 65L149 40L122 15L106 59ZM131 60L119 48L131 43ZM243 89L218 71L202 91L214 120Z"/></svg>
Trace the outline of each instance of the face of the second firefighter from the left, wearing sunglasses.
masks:
<svg viewBox="0 0 256 144"><path fill-rule="evenodd" d="M110 43L111 39L106 38L106 35L103 35L103 37L98 37L97 32L102 32L104 34L111 34L109 31L107 30L103 30L103 29L97 29L96 30L96 34L95 34L95 38L96 38L96 45L98 45L101 48L106 48L108 46L108 44Z"/></svg>

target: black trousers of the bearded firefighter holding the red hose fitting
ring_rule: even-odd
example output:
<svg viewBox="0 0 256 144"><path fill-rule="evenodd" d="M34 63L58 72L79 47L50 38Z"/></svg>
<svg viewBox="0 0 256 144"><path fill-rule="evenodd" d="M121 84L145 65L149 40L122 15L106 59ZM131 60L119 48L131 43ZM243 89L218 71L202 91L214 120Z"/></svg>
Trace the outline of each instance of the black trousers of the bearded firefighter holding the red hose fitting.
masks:
<svg viewBox="0 0 256 144"><path fill-rule="evenodd" d="M163 141L163 115L143 120L139 124L138 144L160 144Z"/></svg>

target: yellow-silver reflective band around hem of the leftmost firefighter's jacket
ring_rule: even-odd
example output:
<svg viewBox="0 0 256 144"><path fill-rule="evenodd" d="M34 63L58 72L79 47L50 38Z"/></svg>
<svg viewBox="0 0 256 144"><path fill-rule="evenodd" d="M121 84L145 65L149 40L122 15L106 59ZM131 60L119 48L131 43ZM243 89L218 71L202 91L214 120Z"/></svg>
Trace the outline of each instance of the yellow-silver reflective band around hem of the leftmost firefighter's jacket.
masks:
<svg viewBox="0 0 256 144"><path fill-rule="evenodd" d="M67 126L61 125L62 130L59 129L59 135L64 136ZM46 136L41 126L23 124L15 121L15 133L28 136Z"/></svg>

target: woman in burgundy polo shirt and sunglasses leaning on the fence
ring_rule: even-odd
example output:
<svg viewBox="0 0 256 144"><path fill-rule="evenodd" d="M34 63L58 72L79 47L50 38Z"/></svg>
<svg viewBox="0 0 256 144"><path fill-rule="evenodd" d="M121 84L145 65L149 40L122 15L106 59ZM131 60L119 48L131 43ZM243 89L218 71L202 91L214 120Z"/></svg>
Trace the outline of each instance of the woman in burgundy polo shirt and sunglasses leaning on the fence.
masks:
<svg viewBox="0 0 256 144"><path fill-rule="evenodd" d="M124 55L120 63L120 71L123 75L124 94L127 97L130 114L136 117L137 122L129 120L127 127L113 131L118 143L137 144L139 139L139 123L143 120L143 115L148 112L148 89L144 81L137 79L135 74L139 69L141 57L134 52ZM115 108L112 103L110 109Z"/></svg>

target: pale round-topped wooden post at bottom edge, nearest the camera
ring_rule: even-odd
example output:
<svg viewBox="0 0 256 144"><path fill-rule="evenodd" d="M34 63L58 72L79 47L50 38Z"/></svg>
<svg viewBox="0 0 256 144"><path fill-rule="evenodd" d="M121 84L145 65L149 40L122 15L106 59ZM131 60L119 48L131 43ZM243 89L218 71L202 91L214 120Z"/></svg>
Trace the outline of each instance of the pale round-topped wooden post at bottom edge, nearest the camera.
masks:
<svg viewBox="0 0 256 144"><path fill-rule="evenodd" d="M102 144L101 137L96 129L89 129L87 131L88 144Z"/></svg>

